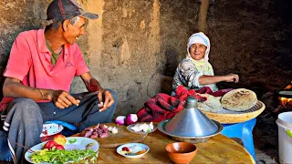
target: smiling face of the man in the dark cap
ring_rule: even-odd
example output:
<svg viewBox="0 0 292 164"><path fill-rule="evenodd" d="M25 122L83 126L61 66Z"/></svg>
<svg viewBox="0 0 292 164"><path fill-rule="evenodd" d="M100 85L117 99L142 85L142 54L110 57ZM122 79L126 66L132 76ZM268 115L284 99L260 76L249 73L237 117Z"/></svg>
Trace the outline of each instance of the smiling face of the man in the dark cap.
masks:
<svg viewBox="0 0 292 164"><path fill-rule="evenodd" d="M85 35L85 23L86 18L84 17L80 17L79 21L76 22L74 26L68 21L66 31L64 32L64 37L68 44L73 45L77 41L78 36Z"/></svg>

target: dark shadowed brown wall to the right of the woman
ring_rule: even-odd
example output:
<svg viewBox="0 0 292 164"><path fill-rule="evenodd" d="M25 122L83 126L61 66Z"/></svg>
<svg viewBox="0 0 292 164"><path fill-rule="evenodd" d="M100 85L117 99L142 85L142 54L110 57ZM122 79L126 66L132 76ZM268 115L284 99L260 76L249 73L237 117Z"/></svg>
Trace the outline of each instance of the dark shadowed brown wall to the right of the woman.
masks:
<svg viewBox="0 0 292 164"><path fill-rule="evenodd" d="M251 88L258 96L289 85L291 21L283 21L279 12L291 6L286 0L215 1L208 15L215 74L239 74L240 83L232 87Z"/></svg>

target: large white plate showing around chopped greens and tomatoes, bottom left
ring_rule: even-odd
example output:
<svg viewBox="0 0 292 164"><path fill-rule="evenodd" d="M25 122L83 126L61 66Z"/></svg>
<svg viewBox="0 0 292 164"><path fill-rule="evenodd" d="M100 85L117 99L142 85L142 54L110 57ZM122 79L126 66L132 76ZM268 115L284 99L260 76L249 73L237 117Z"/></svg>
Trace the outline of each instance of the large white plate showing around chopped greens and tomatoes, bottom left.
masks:
<svg viewBox="0 0 292 164"><path fill-rule="evenodd" d="M74 142L73 142L74 141ZM47 143L47 141L42 142L37 144L36 146L32 147L32 150L40 150L43 149L44 145ZM98 151L99 150L99 142L95 139L92 138L83 138L83 137L69 137L66 138L66 144L65 144L65 149L67 150L72 150L72 149L87 149L86 147L92 144L92 146L90 146L88 149L92 149L94 151ZM30 150L26 151L25 154L25 159L30 162L30 163L34 163L30 157L32 155L32 152ZM86 158L86 157L84 157ZM41 164L48 164L46 163L41 163Z"/></svg>

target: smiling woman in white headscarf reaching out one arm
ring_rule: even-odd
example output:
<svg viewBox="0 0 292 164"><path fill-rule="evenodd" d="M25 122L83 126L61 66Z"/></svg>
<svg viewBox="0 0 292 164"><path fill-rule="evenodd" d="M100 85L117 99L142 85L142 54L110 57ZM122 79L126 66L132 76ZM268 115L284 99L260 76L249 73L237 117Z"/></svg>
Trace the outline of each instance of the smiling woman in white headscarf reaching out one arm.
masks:
<svg viewBox="0 0 292 164"><path fill-rule="evenodd" d="M210 87L217 91L216 83L235 82L239 77L235 74L214 76L214 70L209 61L210 40L202 32L190 36L187 45L188 56L184 58L176 68L172 82L172 96L179 86L198 90L202 87Z"/></svg>

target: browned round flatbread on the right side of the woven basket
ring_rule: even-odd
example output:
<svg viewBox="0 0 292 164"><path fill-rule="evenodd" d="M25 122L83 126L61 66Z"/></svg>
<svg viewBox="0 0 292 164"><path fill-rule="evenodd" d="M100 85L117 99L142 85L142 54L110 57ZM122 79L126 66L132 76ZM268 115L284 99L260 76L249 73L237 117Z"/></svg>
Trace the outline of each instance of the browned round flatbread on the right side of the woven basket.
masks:
<svg viewBox="0 0 292 164"><path fill-rule="evenodd" d="M256 101L255 92L245 88L231 90L221 98L222 106L233 111L244 111L253 108Z"/></svg>

